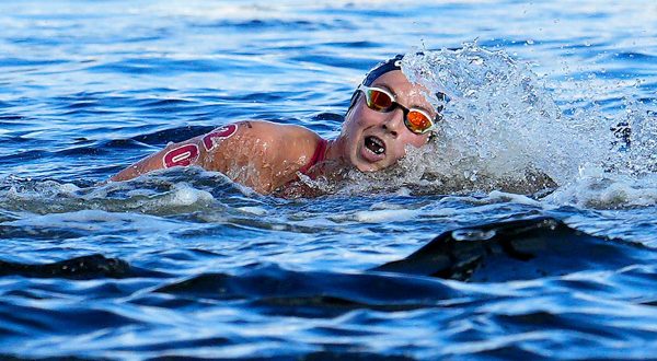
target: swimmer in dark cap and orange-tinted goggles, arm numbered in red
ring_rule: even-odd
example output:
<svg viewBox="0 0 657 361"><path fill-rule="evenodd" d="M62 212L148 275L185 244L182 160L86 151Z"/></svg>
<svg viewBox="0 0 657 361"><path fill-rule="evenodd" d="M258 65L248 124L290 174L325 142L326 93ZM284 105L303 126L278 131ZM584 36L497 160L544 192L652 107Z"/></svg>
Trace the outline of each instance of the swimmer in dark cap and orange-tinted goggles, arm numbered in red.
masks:
<svg viewBox="0 0 657 361"><path fill-rule="evenodd" d="M406 145L423 147L441 119L425 90L401 70L403 56L370 70L351 96L342 131L325 140L295 125L269 121L230 124L170 144L114 175L127 180L174 166L221 172L260 194L285 193L300 175L315 178L345 170L377 172L405 155Z"/></svg>

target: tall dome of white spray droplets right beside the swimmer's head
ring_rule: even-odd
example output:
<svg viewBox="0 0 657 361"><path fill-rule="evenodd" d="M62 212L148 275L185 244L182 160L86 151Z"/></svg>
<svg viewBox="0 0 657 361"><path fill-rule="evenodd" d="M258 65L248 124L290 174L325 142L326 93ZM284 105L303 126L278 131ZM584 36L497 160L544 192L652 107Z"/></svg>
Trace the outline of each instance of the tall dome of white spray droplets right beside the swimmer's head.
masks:
<svg viewBox="0 0 657 361"><path fill-rule="evenodd" d="M458 50L411 54L402 61L407 78L429 90L446 93L443 124L429 150L430 171L457 183L487 189L531 190L538 178L563 185L578 166L601 164L612 141L609 127L562 116L544 84L525 63L503 51L474 44ZM606 131L600 129L606 128Z"/></svg>

